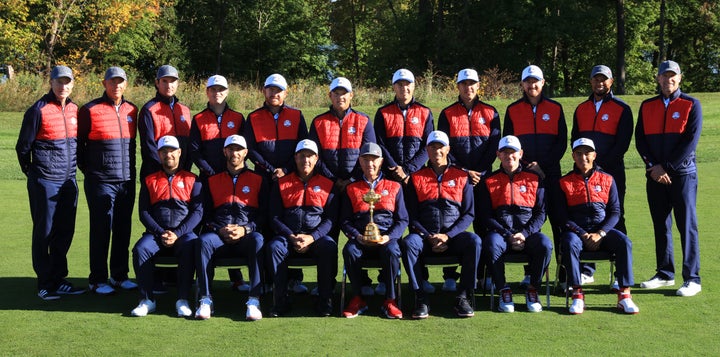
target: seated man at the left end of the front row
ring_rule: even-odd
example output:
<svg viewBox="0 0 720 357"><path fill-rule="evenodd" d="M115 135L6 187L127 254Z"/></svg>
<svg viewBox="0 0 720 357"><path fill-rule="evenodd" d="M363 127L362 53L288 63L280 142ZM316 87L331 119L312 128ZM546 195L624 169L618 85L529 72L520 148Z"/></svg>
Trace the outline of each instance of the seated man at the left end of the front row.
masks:
<svg viewBox="0 0 720 357"><path fill-rule="evenodd" d="M188 305L190 286L195 273L195 240L193 229L202 219L202 185L197 177L180 169L182 149L174 136L158 140L158 157L162 170L145 177L140 187L140 221L145 233L133 248L133 267L142 300L130 312L146 316L155 311L153 296L153 258L174 254L178 261L177 314L192 314Z"/></svg>

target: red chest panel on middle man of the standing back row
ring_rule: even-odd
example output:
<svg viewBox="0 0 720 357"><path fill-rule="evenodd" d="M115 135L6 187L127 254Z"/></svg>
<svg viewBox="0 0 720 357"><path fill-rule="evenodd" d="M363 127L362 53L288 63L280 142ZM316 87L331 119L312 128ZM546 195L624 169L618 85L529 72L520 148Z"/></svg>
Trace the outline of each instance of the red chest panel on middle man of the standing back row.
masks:
<svg viewBox="0 0 720 357"><path fill-rule="evenodd" d="M320 140L318 144L323 150L360 149L367 123L367 117L355 112L349 112L343 118L342 128L332 113L323 114L313 121Z"/></svg>

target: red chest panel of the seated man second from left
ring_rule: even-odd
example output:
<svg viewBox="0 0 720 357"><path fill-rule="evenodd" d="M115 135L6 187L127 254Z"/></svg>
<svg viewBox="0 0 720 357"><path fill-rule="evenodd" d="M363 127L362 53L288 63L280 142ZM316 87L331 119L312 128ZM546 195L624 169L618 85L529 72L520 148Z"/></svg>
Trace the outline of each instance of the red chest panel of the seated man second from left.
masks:
<svg viewBox="0 0 720 357"><path fill-rule="evenodd" d="M258 208L260 202L260 187L262 177L252 171L245 171L233 184L233 179L227 172L210 176L208 179L213 207L225 204L240 204L242 206Z"/></svg>

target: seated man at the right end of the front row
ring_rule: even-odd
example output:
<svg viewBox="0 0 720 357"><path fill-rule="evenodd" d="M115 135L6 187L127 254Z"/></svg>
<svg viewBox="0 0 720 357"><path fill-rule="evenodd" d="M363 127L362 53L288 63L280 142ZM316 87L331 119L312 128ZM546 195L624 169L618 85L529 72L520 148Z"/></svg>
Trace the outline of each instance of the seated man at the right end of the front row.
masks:
<svg viewBox="0 0 720 357"><path fill-rule="evenodd" d="M573 142L573 171L560 179L557 207L562 234L560 236L562 264L568 272L568 285L573 289L570 313L585 311L580 286L580 253L583 250L602 250L615 254L618 291L617 308L626 314L640 309L632 301L630 287L634 284L632 271L632 242L627 235L613 228L620 217L615 180L595 165L595 144L587 138Z"/></svg>

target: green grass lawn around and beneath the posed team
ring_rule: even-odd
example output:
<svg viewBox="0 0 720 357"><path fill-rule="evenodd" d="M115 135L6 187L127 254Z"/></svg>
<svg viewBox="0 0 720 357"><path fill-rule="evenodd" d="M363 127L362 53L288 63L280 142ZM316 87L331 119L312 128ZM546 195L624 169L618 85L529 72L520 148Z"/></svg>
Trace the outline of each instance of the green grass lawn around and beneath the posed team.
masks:
<svg viewBox="0 0 720 357"><path fill-rule="evenodd" d="M567 314L564 297L558 295L552 296L550 309L528 313L516 287L514 314L489 311L488 297L478 295L475 317L458 319L451 308L453 296L438 292L431 296L431 317L425 321L379 317L379 297L370 299L368 313L356 319L316 318L310 297L301 296L296 298L291 316L250 323L244 321L246 296L230 291L224 269L216 274L215 316L207 321L174 317L174 289L160 296L158 311L145 318L129 317L137 304L137 292L64 296L45 302L35 296L27 192L14 153L22 114L0 113L0 227L6 231L0 240L0 355L718 355L720 339L715 327L720 324L720 313L715 307L720 306L716 290L720 286L720 256L716 253L720 241L712 236L712 222L720 212L715 206L720 202L720 160L713 154L720 146L720 95L697 96L705 113L698 149L703 292L692 298L676 297L679 274L674 288L634 289L641 310L635 316L615 311L617 298L608 290L607 263L598 264L596 283L587 289L587 311L580 316ZM582 100L560 99L568 121ZM641 100L627 98L635 114ZM502 115L508 102L492 104ZM436 116L442 107L432 105ZM375 108L360 109L374 115ZM306 110L306 118L323 110ZM627 157L631 167L627 172L627 224L639 284L654 273L654 241L643 169L634 146ZM569 160L564 160L563 170L569 165ZM133 241L142 231L136 218ZM78 285L87 284L87 237L87 204L81 191L75 241L69 253L69 278ZM675 243L679 271L682 255L678 239ZM554 263L550 269L554 276ZM521 279L520 265L509 265L507 270L509 280ZM441 275L440 268L431 268L431 282L438 290ZM314 270L305 269L305 277L314 286ZM339 284L336 291L339 299ZM271 305L269 295L263 297L262 305L266 312ZM406 286L403 305L409 313L412 296Z"/></svg>

